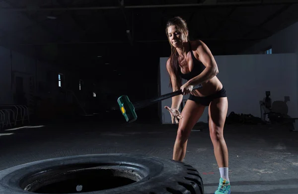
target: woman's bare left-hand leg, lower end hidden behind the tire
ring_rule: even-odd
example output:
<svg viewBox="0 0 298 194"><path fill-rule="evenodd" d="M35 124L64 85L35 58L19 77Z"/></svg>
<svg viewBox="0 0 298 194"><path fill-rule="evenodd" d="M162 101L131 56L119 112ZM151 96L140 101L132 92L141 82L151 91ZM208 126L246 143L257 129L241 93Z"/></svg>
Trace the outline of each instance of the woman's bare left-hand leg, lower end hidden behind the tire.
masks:
<svg viewBox="0 0 298 194"><path fill-rule="evenodd" d="M179 120L176 141L174 144L173 160L182 161L185 157L188 136L204 112L205 106L187 100Z"/></svg>

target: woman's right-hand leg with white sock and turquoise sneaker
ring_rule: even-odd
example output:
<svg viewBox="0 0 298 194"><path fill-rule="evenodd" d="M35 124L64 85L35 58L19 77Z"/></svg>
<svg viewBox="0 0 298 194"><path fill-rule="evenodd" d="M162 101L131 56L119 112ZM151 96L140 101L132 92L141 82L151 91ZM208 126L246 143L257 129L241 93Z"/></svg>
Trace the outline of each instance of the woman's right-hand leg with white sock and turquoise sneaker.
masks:
<svg viewBox="0 0 298 194"><path fill-rule="evenodd" d="M218 163L221 180L216 194L230 191L228 179L228 151L224 140L224 122L227 114L227 98L217 98L209 105L209 129L214 147L214 154Z"/></svg>

